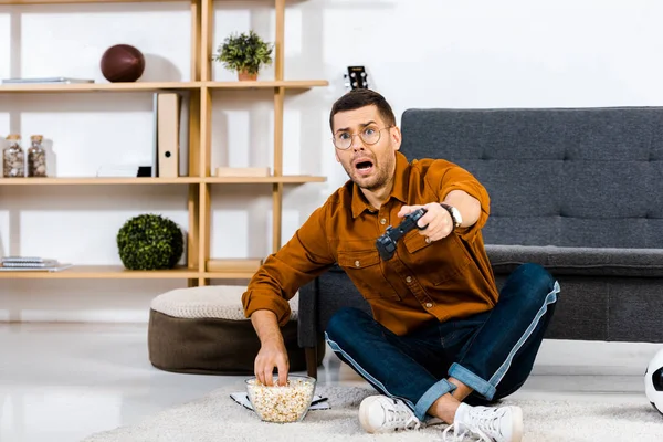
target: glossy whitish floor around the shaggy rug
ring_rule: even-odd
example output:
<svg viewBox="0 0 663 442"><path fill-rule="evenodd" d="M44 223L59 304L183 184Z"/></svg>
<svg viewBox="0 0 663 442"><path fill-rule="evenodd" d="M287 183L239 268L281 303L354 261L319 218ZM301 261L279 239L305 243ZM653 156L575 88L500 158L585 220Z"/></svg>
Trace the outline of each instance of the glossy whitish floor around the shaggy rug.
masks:
<svg viewBox="0 0 663 442"><path fill-rule="evenodd" d="M0 324L0 441L78 441L243 377L177 375L147 359L146 326ZM662 345L544 341L520 398L642 399ZM319 382L364 385L330 352Z"/></svg>

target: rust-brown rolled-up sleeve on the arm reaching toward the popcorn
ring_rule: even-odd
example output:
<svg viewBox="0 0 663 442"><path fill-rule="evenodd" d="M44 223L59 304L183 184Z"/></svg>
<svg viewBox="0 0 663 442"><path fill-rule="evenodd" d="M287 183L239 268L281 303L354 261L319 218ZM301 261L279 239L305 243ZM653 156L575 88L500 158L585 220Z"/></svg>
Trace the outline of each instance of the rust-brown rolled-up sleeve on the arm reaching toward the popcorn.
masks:
<svg viewBox="0 0 663 442"><path fill-rule="evenodd" d="M327 204L314 211L293 238L271 254L251 278L242 295L244 316L267 309L274 312L284 326L291 316L288 299L299 287L325 270L335 260L326 234Z"/></svg>

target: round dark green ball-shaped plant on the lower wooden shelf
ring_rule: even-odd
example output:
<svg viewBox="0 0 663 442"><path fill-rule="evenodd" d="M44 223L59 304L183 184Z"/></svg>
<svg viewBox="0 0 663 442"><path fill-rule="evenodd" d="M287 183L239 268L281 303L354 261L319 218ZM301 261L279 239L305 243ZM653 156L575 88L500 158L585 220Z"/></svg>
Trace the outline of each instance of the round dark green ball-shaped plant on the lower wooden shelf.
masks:
<svg viewBox="0 0 663 442"><path fill-rule="evenodd" d="M178 263L185 251L180 228L158 214L129 219L117 232L119 259L128 270L166 270Z"/></svg>

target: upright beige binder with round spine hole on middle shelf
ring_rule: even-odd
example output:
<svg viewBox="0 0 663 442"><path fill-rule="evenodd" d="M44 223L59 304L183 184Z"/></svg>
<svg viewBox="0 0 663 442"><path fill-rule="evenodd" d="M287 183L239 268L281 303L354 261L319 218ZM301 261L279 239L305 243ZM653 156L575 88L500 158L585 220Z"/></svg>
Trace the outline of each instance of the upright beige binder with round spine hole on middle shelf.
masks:
<svg viewBox="0 0 663 442"><path fill-rule="evenodd" d="M157 176L179 176L180 96L159 93L157 96Z"/></svg>

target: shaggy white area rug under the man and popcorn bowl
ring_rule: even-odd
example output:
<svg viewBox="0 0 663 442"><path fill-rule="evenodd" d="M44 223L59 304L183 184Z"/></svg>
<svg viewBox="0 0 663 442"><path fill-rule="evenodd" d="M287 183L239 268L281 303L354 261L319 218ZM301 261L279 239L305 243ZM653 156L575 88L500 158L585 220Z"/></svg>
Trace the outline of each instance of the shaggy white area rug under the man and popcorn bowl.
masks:
<svg viewBox="0 0 663 442"><path fill-rule="evenodd" d="M318 386L329 398L329 410L309 411L303 422L265 423L230 399L241 390L223 388L162 411L136 425L95 433L84 442L218 442L218 441L440 441L442 425L414 432L367 434L359 425L361 399L373 390ZM643 398L639 402L506 400L523 408L524 442L655 442L663 441L663 415Z"/></svg>

